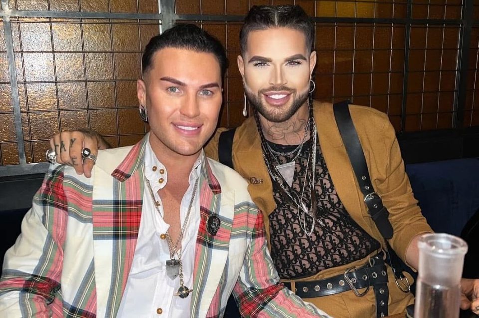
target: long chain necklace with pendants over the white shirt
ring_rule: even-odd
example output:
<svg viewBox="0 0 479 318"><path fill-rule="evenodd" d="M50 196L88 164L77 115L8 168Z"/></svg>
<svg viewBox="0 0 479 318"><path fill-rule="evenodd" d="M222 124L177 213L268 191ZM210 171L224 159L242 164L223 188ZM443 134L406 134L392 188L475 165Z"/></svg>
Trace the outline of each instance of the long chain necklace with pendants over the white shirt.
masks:
<svg viewBox="0 0 479 318"><path fill-rule="evenodd" d="M145 179L145 180L146 180L146 185L148 186L148 190L150 190L151 199L153 200L155 209L158 212L158 214L163 218L159 208L160 203L155 200L155 195L153 193L153 189L151 187L150 181L148 179ZM171 279L175 279L177 276L180 277L180 287L178 288L178 292L175 293L174 295L180 296L181 298L187 298L188 295L190 295L190 293L193 292L193 290L186 287L183 282L183 263L181 261L182 246L180 242L181 242L181 239L183 238L183 235L185 234L188 220L190 219L191 207L193 206L193 200L195 199L197 188L198 188L198 179L196 180L195 186L193 187L193 193L191 195L190 204L188 205L188 211L186 213L185 221L183 222L180 235L178 236L178 239L176 240L175 245L173 245L173 242L170 236L170 232L169 232L170 229L168 229L168 231L166 231L165 233L166 241L168 243L168 249L170 250L170 259L166 261L166 275L168 275L168 277L170 277ZM178 244L180 245L179 249L178 249ZM175 259L175 254L178 256L178 260Z"/></svg>

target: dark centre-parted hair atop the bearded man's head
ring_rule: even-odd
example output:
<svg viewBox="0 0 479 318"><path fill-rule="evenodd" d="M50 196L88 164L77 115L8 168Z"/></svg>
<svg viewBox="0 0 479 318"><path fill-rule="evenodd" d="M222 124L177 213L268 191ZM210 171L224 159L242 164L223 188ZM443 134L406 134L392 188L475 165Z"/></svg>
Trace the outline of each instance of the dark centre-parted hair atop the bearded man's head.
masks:
<svg viewBox="0 0 479 318"><path fill-rule="evenodd" d="M299 5L254 5L241 28L241 55L246 52L250 32L273 27L287 27L304 33L308 49L313 49L314 24Z"/></svg>

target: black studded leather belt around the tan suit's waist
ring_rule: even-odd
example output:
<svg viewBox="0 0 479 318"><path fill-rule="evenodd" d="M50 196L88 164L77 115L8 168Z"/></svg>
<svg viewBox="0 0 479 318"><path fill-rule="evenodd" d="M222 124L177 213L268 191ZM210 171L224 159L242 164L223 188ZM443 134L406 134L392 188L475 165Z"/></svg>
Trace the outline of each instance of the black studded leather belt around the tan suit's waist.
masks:
<svg viewBox="0 0 479 318"><path fill-rule="evenodd" d="M290 282L283 282L291 290ZM344 274L317 281L296 281L293 291L301 298L314 298L353 290L356 296L364 296L372 286L376 296L377 317L388 315L388 272L383 252L371 257L367 265L347 269ZM364 291L360 289L366 288Z"/></svg>

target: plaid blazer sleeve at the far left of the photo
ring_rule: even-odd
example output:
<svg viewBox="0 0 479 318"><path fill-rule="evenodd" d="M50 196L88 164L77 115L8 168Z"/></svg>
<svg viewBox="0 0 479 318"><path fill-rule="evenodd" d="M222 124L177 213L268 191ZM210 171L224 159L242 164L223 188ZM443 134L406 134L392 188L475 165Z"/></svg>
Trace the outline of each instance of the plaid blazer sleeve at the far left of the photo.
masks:
<svg viewBox="0 0 479 318"><path fill-rule="evenodd" d="M0 317L58 317L67 204L63 166L50 166L25 215L21 235L5 253Z"/></svg>

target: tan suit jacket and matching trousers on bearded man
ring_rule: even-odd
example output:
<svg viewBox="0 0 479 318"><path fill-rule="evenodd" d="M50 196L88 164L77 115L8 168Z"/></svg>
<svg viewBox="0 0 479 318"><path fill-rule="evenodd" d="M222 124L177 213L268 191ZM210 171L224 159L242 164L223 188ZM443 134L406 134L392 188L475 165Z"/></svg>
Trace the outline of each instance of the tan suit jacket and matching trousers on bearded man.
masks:
<svg viewBox="0 0 479 318"><path fill-rule="evenodd" d="M390 213L389 220L393 226L394 235L389 243L405 260L406 249L412 238L432 230L413 196L396 134L388 116L373 108L357 105L350 105L350 112L363 147L374 189L381 195ZM334 119L332 104L315 101L314 120L324 159L344 207L352 218L384 247L385 241L366 211L363 194L358 187ZM219 135L224 130L220 128L205 148L207 155L216 160L218 160ZM269 242L268 215L275 209L276 203L254 118L247 119L237 128L232 152L235 170L249 181L249 193L264 214L263 220ZM364 262L366 260L330 268L303 280L337 275L351 266L362 265ZM403 312L406 305L412 303L412 294L405 294L397 288L391 271L389 271L389 278L389 313ZM372 290L363 299L368 299L369 302L359 302L352 291L349 291L320 299L308 299L308 301L315 303L334 317L373 317L375 306Z"/></svg>

